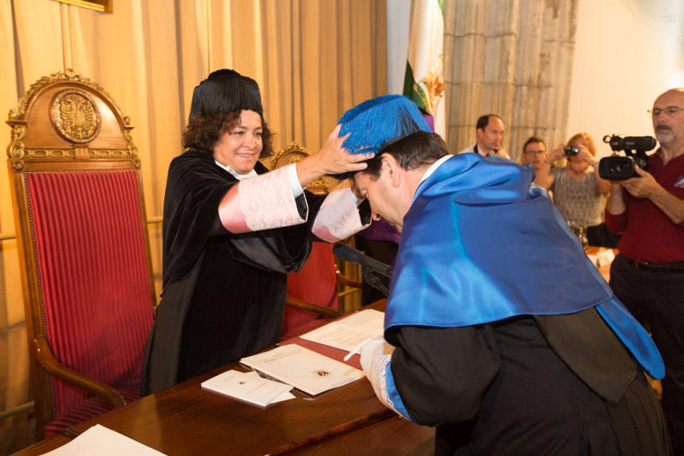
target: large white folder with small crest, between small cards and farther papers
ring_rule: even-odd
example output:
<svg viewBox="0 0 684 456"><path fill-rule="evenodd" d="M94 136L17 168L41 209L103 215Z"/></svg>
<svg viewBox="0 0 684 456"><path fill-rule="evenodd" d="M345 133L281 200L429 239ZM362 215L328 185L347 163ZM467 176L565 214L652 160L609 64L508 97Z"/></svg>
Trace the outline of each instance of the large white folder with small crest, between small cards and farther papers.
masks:
<svg viewBox="0 0 684 456"><path fill-rule="evenodd" d="M363 372L297 344L284 345L240 360L251 368L312 396L363 378Z"/></svg>

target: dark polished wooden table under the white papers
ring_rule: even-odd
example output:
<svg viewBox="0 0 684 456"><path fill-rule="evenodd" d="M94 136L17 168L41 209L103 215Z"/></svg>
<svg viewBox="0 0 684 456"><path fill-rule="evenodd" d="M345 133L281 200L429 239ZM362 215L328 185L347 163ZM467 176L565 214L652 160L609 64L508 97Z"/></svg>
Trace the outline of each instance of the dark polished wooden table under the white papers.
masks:
<svg viewBox="0 0 684 456"><path fill-rule="evenodd" d="M380 306L384 303L375 307ZM308 341L293 342L338 360L346 353ZM358 358L348 364L358 367ZM238 363L222 366L65 433L74 437L101 424L168 455L434 453L434 429L397 418L365 379L315 397L293 390L296 399L262 409L200 388L205 379L231 368L246 370ZM59 435L16 454L38 455L68 440Z"/></svg>

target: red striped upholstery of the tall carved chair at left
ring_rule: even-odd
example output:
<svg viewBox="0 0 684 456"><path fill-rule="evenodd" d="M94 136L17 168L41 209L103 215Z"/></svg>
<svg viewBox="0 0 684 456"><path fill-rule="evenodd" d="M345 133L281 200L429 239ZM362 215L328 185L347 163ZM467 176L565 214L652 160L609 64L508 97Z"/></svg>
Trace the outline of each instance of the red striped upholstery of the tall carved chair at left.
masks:
<svg viewBox="0 0 684 456"><path fill-rule="evenodd" d="M47 341L68 368L140 382L153 321L140 194L132 170L27 173ZM51 376L62 415L86 391Z"/></svg>

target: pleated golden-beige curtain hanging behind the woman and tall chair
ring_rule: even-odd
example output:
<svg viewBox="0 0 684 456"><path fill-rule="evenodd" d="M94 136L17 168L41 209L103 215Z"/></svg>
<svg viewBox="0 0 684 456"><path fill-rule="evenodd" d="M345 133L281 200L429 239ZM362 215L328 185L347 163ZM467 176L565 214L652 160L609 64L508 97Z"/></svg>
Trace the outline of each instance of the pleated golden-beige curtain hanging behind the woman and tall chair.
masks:
<svg viewBox="0 0 684 456"><path fill-rule="evenodd" d="M96 81L135 126L148 217L158 216L200 80L224 67L254 77L276 150L291 141L317 150L345 109L386 93L385 8L385 0L114 0L106 14L0 0L0 113L31 83L65 68ZM0 142L9 144L9 133L0 126ZM0 200L0 232L12 234L7 172ZM159 224L150 225L150 241L159 293ZM5 239L0 248L1 412L29 395L16 243ZM10 440L0 423L0 442Z"/></svg>

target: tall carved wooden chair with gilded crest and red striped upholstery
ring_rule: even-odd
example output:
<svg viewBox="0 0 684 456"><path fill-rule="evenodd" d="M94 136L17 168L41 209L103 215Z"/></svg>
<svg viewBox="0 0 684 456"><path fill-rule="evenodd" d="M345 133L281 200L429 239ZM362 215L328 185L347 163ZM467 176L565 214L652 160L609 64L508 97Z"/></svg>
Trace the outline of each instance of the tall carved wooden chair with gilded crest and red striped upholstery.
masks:
<svg viewBox="0 0 684 456"><path fill-rule="evenodd" d="M155 290L129 118L73 71L10 111L8 168L40 436L140 394Z"/></svg>

